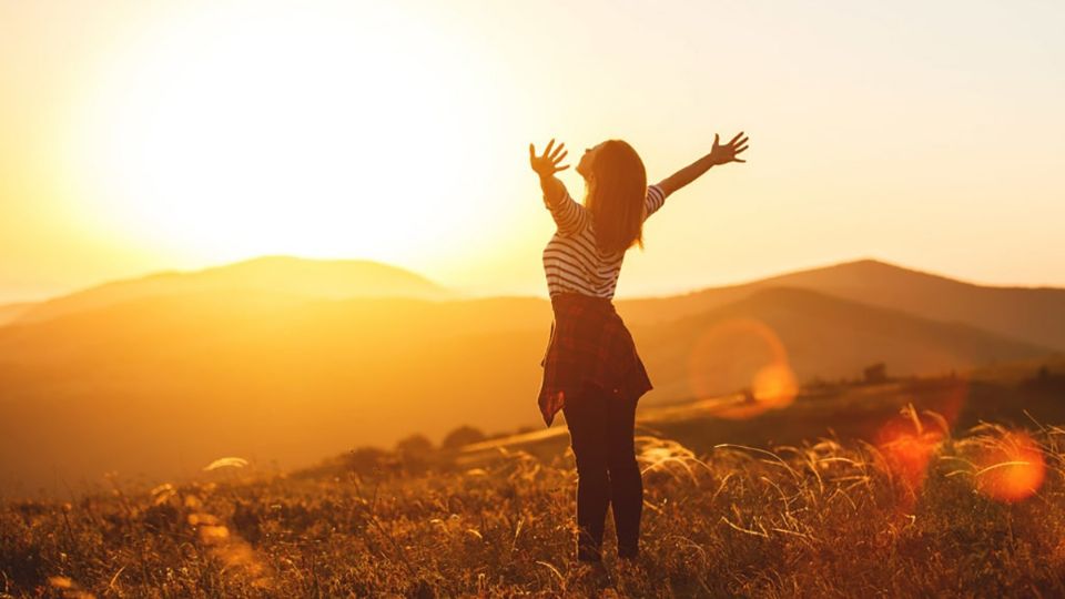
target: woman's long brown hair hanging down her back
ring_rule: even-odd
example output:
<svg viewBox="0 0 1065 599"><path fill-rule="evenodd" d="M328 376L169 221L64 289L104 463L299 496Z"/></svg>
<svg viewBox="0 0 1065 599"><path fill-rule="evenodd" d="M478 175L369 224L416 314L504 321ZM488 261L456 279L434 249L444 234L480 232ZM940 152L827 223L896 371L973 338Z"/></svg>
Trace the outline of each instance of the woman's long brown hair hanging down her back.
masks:
<svg viewBox="0 0 1065 599"><path fill-rule="evenodd" d="M647 170L631 145L608 140L591 163L592 180L585 197L596 229L596 244L606 253L643 248L643 199Z"/></svg>

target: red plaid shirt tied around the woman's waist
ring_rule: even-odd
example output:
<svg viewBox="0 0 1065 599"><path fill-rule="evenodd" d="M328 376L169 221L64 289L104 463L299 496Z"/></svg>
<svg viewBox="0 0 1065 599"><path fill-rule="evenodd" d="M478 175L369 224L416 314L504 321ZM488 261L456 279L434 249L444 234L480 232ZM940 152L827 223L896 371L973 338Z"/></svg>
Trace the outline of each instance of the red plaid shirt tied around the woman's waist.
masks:
<svg viewBox="0 0 1065 599"><path fill-rule="evenodd" d="M586 380L637 400L653 388L610 298L560 293L551 296L551 308L555 319L540 361L544 382L537 399L547 426L566 397L575 397Z"/></svg>

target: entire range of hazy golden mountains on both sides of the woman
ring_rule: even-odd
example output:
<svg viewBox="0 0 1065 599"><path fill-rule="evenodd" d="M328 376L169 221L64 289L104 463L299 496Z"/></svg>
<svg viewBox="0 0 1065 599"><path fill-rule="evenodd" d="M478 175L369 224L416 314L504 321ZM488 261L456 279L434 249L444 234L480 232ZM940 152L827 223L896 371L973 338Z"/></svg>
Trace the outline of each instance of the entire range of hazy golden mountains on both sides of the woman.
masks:
<svg viewBox="0 0 1065 599"><path fill-rule="evenodd" d="M748 387L774 344L799 382L1065 347L1063 290L874 261L616 305L656 386L648 404ZM297 466L463 424L542 426L550 322L544 298L460 298L387 265L286 257L36 304L0 326L0 494L108 470L174 476L224 455Z"/></svg>

